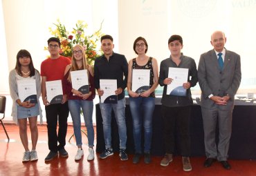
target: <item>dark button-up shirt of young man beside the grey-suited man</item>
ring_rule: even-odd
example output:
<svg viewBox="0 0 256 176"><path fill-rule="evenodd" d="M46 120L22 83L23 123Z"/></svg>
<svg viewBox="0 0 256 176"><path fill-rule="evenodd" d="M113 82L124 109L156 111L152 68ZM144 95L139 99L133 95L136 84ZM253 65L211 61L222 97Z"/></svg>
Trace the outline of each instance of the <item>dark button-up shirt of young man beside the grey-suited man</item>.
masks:
<svg viewBox="0 0 256 176"><path fill-rule="evenodd" d="M163 80L168 77L169 67L188 68L188 82L190 82L191 87L194 87L196 86L196 83L198 81L196 63L194 59L181 55L181 63L179 64L179 66L177 66L176 63L172 61L172 57L169 57L161 61L159 72L159 84L160 86L164 86L161 103L164 106L169 107L190 106L191 104L193 104L190 88L187 90L187 94L185 97L166 95L167 85L163 84Z"/></svg>

